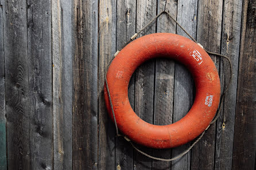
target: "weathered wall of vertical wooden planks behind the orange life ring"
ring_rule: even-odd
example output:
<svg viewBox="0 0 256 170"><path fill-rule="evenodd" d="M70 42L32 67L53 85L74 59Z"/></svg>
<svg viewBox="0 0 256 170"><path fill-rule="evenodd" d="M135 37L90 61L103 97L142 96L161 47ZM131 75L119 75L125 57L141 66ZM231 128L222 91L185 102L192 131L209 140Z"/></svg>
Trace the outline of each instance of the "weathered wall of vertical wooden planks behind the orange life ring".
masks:
<svg viewBox="0 0 256 170"><path fill-rule="evenodd" d="M104 105L104 69L116 50L164 7L164 0L0 0L0 169L253 170L254 0L166 3L201 45L230 56L234 68L220 118L187 155L156 161L115 137ZM156 32L187 36L166 15L139 36ZM223 90L228 63L211 57ZM191 74L170 60L141 65L129 85L135 112L157 125L180 120L194 97ZM142 150L168 158L187 147Z"/></svg>

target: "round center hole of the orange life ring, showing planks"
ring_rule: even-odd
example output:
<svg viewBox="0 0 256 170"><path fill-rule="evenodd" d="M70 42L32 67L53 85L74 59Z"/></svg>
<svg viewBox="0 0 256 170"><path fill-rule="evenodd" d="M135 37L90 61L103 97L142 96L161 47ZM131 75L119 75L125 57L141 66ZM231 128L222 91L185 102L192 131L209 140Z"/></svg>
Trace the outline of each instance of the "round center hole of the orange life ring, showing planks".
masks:
<svg viewBox="0 0 256 170"><path fill-rule="evenodd" d="M192 74L183 64L166 58L149 60L131 76L128 97L134 112L154 125L179 121L195 99Z"/></svg>

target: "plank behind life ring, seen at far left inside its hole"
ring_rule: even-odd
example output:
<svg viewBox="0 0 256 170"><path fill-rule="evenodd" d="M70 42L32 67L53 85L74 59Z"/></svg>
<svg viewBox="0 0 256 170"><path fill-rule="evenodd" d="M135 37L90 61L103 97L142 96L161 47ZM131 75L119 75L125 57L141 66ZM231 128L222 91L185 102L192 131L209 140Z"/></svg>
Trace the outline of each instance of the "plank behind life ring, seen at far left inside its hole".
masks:
<svg viewBox="0 0 256 170"><path fill-rule="evenodd" d="M129 41L135 33L136 0L117 1L117 49ZM128 97L134 109L134 74L131 77ZM123 138L115 141L115 166L121 169L133 169L133 148Z"/></svg>

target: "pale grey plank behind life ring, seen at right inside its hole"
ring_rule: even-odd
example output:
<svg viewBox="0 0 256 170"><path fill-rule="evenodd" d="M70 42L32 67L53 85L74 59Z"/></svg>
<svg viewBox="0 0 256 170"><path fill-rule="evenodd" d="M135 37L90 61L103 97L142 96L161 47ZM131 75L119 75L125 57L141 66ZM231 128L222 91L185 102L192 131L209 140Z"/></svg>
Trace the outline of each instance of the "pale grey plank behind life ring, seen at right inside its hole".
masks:
<svg viewBox="0 0 256 170"><path fill-rule="evenodd" d="M197 25L197 0L181 0L177 6L177 21L192 37L196 38ZM177 34L188 38L188 35L177 26ZM173 122L179 121L189 111L193 104L193 78L188 69L179 63L175 64L174 75L174 105L173 105ZM177 156L185 151L189 144L178 148L173 148L172 156ZM190 169L191 152L178 160L172 161L172 169Z"/></svg>

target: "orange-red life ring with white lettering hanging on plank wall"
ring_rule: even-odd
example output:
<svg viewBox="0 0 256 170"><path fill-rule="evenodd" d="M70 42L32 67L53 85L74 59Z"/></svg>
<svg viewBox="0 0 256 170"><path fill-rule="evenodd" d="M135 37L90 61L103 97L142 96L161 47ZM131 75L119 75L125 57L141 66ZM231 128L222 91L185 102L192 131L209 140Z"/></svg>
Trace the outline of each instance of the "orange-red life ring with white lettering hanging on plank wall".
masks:
<svg viewBox="0 0 256 170"><path fill-rule="evenodd" d="M171 58L187 66L196 86L192 108L170 125L143 121L134 113L128 99L128 85L135 69L157 57ZM107 82L118 129L135 143L150 148L173 148L195 139L214 118L220 101L220 80L214 62L199 45L177 34L149 34L126 45L111 62ZM113 119L106 84L104 98Z"/></svg>

